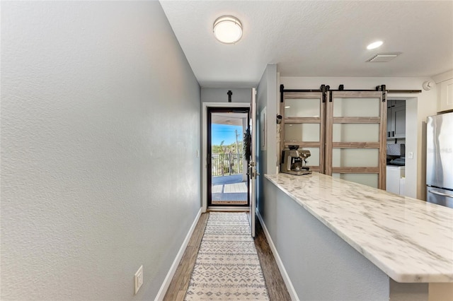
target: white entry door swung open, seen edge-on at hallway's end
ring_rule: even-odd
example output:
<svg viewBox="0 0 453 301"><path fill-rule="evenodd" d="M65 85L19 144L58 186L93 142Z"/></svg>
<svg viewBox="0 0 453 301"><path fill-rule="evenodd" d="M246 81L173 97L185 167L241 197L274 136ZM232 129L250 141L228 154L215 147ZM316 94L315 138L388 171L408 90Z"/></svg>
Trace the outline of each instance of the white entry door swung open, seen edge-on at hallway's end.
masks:
<svg viewBox="0 0 453 301"><path fill-rule="evenodd" d="M256 214L256 89L252 89L251 101L251 118L250 118L250 134L251 134L251 158L248 163L248 203L250 203L250 228L251 235L255 237L255 214Z"/></svg>

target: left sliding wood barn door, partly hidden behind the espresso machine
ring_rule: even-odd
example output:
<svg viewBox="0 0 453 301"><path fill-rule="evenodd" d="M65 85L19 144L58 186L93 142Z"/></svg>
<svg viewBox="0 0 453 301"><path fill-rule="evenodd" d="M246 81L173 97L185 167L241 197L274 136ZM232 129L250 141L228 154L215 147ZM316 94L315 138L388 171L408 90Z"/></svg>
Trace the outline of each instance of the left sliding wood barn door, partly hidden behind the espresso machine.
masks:
<svg viewBox="0 0 453 301"><path fill-rule="evenodd" d="M324 172L324 103L321 92L285 92L280 103L280 158L288 146L308 150L307 166Z"/></svg>

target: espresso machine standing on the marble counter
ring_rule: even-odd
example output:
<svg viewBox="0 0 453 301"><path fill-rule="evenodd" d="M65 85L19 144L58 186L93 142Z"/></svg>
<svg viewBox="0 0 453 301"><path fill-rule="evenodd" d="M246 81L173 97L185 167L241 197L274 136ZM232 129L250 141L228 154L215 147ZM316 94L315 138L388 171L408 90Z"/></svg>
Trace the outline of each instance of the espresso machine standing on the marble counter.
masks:
<svg viewBox="0 0 453 301"><path fill-rule="evenodd" d="M310 168L306 166L306 158L311 156L310 151L298 150L299 146L289 146L289 149L282 152L282 163L280 171L291 175L309 175Z"/></svg>

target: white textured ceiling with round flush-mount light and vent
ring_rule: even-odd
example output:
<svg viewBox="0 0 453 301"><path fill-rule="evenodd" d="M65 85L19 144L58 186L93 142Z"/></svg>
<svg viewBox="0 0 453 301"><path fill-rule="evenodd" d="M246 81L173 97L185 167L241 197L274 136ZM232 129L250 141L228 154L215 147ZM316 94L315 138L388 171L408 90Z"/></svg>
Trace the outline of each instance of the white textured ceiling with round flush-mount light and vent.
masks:
<svg viewBox="0 0 453 301"><path fill-rule="evenodd" d="M434 76L453 69L453 1L161 0L202 87L256 87L267 64L281 76ZM212 35L219 16L241 20L243 37ZM365 47L383 40L379 49ZM366 63L380 52L403 52Z"/></svg>

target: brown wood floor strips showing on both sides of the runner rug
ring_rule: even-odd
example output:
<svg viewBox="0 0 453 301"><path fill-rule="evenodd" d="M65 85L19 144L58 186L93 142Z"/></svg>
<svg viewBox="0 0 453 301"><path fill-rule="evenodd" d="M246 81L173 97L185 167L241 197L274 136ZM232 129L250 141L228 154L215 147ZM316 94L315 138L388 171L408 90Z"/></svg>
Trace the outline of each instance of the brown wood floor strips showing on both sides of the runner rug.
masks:
<svg viewBox="0 0 453 301"><path fill-rule="evenodd" d="M168 287L164 301L184 300L185 291L189 285L190 275L192 273L193 266L195 265L195 259L197 258L198 249L200 248L200 242L205 232L208 217L209 213L202 213L200 216L200 220L198 220L193 235L190 237L188 246L185 249L183 258L179 263L175 276L173 276L170 286ZM268 240L266 240L263 228L261 228L258 219L256 219L255 246L258 252L261 267L263 268L270 300L291 300L272 251L270 250Z"/></svg>

